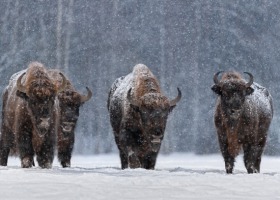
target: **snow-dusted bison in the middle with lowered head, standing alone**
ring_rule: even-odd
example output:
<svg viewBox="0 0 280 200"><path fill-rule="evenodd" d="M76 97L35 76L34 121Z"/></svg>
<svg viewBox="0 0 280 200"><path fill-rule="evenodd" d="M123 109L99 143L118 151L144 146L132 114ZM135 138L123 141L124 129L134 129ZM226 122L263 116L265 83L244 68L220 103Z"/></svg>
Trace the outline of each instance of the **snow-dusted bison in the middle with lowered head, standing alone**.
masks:
<svg viewBox="0 0 280 200"><path fill-rule="evenodd" d="M143 64L115 80L107 107L122 169L154 169L168 114L180 99L178 88L178 96L169 101L157 78Z"/></svg>

